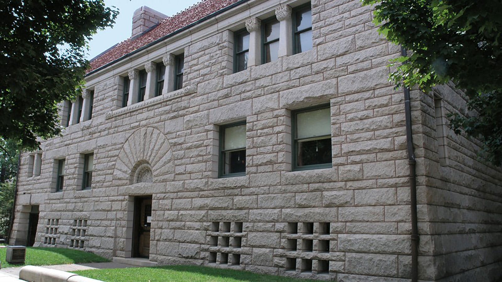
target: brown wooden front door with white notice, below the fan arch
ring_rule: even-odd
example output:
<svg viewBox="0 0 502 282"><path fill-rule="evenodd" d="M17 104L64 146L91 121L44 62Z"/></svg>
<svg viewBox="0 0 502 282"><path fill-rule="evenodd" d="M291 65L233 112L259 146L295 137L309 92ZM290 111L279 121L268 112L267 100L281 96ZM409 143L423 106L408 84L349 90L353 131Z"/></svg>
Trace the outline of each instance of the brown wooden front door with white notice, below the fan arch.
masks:
<svg viewBox="0 0 502 282"><path fill-rule="evenodd" d="M148 258L150 255L152 196L136 197L134 202L133 256Z"/></svg>

